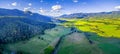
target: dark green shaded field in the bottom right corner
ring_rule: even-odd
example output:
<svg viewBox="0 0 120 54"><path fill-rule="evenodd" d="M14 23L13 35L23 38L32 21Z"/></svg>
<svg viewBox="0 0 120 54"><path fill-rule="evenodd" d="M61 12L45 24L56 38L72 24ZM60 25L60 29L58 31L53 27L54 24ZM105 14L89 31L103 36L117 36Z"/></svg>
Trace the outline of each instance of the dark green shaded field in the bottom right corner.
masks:
<svg viewBox="0 0 120 54"><path fill-rule="evenodd" d="M89 39L96 44L103 54L120 54L119 38L104 38L95 33L88 33Z"/></svg>

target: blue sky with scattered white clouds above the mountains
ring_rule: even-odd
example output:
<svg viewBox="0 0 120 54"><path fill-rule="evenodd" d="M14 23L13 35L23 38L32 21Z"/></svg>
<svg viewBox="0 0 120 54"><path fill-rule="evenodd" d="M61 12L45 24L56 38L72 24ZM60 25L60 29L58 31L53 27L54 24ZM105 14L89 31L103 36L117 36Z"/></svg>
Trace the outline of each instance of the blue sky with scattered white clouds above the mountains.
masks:
<svg viewBox="0 0 120 54"><path fill-rule="evenodd" d="M120 10L120 0L0 0L0 8L60 16Z"/></svg>

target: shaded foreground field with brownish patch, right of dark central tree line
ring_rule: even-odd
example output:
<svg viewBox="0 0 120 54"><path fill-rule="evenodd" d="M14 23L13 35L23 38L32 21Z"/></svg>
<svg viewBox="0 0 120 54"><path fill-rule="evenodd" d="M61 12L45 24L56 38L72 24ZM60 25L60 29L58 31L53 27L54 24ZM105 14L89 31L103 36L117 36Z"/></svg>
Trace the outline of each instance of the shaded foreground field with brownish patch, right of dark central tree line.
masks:
<svg viewBox="0 0 120 54"><path fill-rule="evenodd" d="M60 44L58 54L120 54L119 38L104 38L89 32L89 36L85 34L76 32L66 36Z"/></svg>

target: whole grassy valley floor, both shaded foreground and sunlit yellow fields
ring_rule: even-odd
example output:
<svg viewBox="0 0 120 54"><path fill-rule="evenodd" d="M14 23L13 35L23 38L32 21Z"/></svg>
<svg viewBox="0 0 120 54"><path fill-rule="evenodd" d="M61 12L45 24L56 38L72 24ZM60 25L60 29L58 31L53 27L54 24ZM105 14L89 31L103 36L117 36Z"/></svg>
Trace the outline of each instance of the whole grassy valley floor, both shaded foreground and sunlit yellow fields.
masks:
<svg viewBox="0 0 120 54"><path fill-rule="evenodd" d="M51 54L60 37L57 54L120 54L119 19L61 19L62 26L17 43L5 44L3 54ZM71 28L81 31L73 32ZM69 34L69 35L66 35ZM91 43L91 42L92 43Z"/></svg>

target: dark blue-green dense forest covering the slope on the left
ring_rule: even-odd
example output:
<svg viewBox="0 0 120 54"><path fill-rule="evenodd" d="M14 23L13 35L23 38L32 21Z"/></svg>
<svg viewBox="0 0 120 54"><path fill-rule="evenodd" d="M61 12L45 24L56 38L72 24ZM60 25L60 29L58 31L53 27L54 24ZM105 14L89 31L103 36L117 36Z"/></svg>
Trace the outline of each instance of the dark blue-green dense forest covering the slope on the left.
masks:
<svg viewBox="0 0 120 54"><path fill-rule="evenodd" d="M0 43L13 43L26 40L37 34L44 34L44 30L55 27L54 24L37 22L26 18L1 18Z"/></svg>

